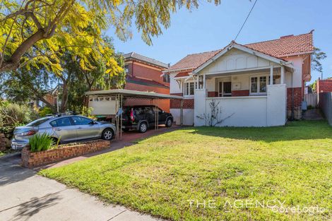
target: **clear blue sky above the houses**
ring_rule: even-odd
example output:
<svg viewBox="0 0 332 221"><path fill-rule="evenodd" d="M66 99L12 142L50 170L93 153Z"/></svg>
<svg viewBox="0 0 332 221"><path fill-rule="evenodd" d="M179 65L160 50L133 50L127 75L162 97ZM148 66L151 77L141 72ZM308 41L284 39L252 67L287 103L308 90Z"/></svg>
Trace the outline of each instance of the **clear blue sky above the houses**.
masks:
<svg viewBox="0 0 332 221"><path fill-rule="evenodd" d="M170 28L153 38L148 46L136 27L133 37L122 42L114 37L117 52L137 52L166 64L175 64L187 54L220 49L234 40L254 0L222 0L215 6L201 0L192 11L181 8L172 14ZM247 44L278 39L284 35L300 35L314 29L314 46L326 53L322 61L324 78L332 77L332 1L331 0L258 0L237 42ZM321 76L312 72L312 81Z"/></svg>

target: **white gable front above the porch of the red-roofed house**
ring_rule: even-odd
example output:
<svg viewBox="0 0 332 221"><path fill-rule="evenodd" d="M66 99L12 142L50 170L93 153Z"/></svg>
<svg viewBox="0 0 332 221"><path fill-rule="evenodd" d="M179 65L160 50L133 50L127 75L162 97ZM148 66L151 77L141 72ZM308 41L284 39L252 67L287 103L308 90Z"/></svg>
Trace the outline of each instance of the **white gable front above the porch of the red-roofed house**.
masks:
<svg viewBox="0 0 332 221"><path fill-rule="evenodd" d="M243 70L247 68L263 68L271 65L276 65L276 63L254 54L249 54L248 52L232 48L230 51L203 68L200 72L208 74L222 71Z"/></svg>

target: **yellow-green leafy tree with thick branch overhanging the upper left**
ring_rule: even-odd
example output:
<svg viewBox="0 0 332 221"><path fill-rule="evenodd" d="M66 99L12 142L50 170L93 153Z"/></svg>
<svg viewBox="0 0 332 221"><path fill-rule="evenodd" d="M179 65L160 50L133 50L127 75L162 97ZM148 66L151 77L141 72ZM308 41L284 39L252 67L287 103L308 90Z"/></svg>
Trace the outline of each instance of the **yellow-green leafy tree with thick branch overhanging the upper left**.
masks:
<svg viewBox="0 0 332 221"><path fill-rule="evenodd" d="M113 25L126 40L134 21L151 44L151 37L161 35L162 27L170 26L171 13L182 6L197 8L198 0L2 0L0 74L40 64L60 75L64 52L80 56L82 68L91 67L91 54L112 63L112 56L102 50L102 30Z"/></svg>

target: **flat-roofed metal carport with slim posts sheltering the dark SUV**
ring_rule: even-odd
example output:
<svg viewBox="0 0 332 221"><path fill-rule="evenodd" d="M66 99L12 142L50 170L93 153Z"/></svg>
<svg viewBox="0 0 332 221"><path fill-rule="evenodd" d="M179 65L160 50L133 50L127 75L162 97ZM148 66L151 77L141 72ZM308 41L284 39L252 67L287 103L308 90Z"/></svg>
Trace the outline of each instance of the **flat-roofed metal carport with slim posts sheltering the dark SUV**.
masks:
<svg viewBox="0 0 332 221"><path fill-rule="evenodd" d="M144 91L138 91L138 90L125 90L125 89L112 89L112 90L94 90L94 91L88 91L85 92L86 96L102 96L102 97L114 97L115 98L115 109L116 112L118 112L119 109L122 109L124 99L131 97L131 98L140 98L140 99L148 99L151 102L154 100L157 100L157 103L155 104L155 107L158 107L158 100L162 99L169 99L169 100L180 100L180 125L183 124L183 97L177 96L177 95L165 95L160 94L156 92L144 92ZM119 117L116 117L116 124L117 124L117 133L116 138L121 139L122 138L122 113L119 114ZM155 114L155 121L157 124L155 124L155 130L158 129L158 112Z"/></svg>

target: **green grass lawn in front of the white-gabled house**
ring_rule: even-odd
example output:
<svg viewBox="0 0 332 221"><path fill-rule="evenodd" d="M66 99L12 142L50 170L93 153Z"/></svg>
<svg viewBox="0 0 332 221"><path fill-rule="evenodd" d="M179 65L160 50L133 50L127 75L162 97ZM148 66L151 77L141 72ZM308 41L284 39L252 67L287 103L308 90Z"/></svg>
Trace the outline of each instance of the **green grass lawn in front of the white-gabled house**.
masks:
<svg viewBox="0 0 332 221"><path fill-rule="evenodd" d="M185 128L40 174L171 220L332 220L332 127Z"/></svg>

